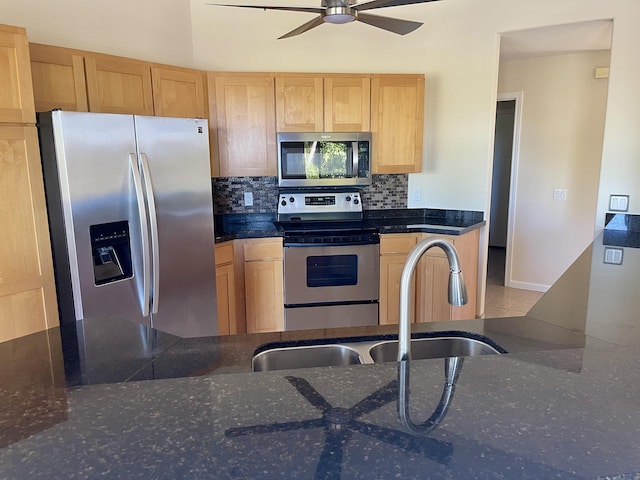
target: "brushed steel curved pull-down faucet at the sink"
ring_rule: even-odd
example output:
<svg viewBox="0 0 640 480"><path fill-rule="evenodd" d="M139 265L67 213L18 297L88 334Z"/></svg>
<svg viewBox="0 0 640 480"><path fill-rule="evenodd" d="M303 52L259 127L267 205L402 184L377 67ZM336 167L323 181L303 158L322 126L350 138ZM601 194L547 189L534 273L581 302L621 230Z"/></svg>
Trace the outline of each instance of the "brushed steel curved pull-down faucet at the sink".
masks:
<svg viewBox="0 0 640 480"><path fill-rule="evenodd" d="M402 269L400 277L400 319L398 322L398 361L411 359L411 280L418 261L431 247L440 247L444 250L449 261L449 303L461 306L467 303L467 288L460 271L458 252L453 244L442 238L426 238L418 243L409 256Z"/></svg>

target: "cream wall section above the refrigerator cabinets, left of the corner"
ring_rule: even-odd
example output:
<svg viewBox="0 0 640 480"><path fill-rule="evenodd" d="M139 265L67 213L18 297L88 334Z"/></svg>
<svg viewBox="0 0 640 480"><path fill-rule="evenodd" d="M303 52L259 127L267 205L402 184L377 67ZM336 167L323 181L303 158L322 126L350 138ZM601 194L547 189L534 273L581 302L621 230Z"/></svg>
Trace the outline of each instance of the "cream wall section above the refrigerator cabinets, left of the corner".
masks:
<svg viewBox="0 0 640 480"><path fill-rule="evenodd" d="M193 65L189 0L1 0L0 23L35 43Z"/></svg>

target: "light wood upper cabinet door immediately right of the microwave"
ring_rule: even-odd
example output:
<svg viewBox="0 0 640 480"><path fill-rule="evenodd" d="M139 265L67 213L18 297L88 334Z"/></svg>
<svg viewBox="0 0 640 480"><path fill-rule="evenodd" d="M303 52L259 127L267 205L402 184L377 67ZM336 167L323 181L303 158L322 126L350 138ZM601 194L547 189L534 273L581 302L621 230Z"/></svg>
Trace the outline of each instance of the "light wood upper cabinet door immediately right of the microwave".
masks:
<svg viewBox="0 0 640 480"><path fill-rule="evenodd" d="M423 125L424 76L372 77L373 173L420 172Z"/></svg>

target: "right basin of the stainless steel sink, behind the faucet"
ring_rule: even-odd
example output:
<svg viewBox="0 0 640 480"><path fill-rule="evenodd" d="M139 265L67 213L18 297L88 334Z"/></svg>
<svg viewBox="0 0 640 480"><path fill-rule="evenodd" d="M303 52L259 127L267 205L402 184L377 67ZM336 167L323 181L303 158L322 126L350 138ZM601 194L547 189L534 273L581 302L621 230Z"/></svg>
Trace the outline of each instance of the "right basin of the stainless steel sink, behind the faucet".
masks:
<svg viewBox="0 0 640 480"><path fill-rule="evenodd" d="M411 340L411 358L471 357L501 353L488 343L466 337L433 337ZM398 359L398 342L390 340L373 345L369 355L375 363L395 362Z"/></svg>

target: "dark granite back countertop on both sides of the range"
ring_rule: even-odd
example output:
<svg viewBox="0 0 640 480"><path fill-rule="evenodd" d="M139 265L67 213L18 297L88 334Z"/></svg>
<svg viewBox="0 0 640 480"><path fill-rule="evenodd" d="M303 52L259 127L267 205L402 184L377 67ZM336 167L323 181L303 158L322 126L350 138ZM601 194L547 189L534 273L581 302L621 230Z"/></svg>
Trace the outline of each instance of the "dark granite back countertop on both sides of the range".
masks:
<svg viewBox="0 0 640 480"><path fill-rule="evenodd" d="M367 223L380 233L463 235L486 224L482 212L435 209L365 210ZM280 237L274 213L215 215L216 243L243 238Z"/></svg>

